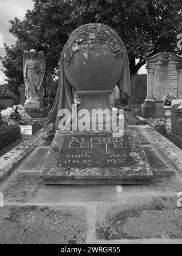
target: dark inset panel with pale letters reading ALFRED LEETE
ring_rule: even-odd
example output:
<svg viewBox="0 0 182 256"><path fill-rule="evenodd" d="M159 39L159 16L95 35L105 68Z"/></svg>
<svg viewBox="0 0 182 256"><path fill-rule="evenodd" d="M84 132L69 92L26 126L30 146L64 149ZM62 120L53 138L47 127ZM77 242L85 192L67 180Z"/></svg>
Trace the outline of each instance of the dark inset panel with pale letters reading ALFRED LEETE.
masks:
<svg viewBox="0 0 182 256"><path fill-rule="evenodd" d="M58 167L130 166L134 163L131 152L127 136L67 136L62 146L62 154L59 155Z"/></svg>

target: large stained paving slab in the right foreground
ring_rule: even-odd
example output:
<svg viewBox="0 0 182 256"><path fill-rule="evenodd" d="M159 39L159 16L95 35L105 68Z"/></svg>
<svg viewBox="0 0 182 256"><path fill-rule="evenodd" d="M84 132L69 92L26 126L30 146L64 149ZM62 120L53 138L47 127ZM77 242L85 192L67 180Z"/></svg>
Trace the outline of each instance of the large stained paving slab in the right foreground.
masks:
<svg viewBox="0 0 182 256"><path fill-rule="evenodd" d="M176 197L130 197L98 207L96 238L101 240L181 239L182 212Z"/></svg>

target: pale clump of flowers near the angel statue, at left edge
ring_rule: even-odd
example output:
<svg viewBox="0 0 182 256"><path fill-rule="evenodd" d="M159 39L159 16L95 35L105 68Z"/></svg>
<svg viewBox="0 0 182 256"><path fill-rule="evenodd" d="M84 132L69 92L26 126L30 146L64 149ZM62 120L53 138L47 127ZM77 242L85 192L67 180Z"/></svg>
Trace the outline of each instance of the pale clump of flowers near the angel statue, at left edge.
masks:
<svg viewBox="0 0 182 256"><path fill-rule="evenodd" d="M19 122L20 124L32 123L32 118L25 112L22 105L14 105L1 111L2 118L8 123Z"/></svg>

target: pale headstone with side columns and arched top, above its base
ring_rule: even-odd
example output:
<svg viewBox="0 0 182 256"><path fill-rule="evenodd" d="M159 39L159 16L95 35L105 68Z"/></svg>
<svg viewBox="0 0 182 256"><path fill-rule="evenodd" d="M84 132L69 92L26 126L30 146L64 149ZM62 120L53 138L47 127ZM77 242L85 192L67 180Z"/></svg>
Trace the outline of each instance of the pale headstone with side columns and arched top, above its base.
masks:
<svg viewBox="0 0 182 256"><path fill-rule="evenodd" d="M161 101L163 95L181 94L181 56L172 52L160 52L147 58L147 99Z"/></svg>

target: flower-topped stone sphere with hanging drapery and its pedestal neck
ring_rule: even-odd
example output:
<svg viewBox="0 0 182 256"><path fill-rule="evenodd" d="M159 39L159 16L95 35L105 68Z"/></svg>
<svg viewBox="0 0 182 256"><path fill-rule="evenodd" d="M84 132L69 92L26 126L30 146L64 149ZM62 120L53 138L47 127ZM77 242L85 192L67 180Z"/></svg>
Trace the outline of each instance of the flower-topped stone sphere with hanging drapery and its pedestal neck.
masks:
<svg viewBox="0 0 182 256"><path fill-rule="evenodd" d="M126 47L105 24L84 24L73 31L62 49L60 74L58 97L44 126L46 139L50 137L50 124L58 128L59 110L66 108L72 112L70 86L81 98L82 108L90 113L93 109L109 108L108 98L116 85L130 95Z"/></svg>

